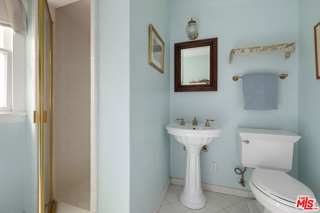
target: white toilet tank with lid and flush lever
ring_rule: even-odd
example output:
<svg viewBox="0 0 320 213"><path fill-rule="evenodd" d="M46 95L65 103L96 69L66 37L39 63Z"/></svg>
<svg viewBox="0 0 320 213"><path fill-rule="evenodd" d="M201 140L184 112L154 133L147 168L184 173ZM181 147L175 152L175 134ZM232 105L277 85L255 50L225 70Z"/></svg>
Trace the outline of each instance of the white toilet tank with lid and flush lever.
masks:
<svg viewBox="0 0 320 213"><path fill-rule="evenodd" d="M285 130L237 128L239 158L243 166L288 172L293 145L301 137Z"/></svg>

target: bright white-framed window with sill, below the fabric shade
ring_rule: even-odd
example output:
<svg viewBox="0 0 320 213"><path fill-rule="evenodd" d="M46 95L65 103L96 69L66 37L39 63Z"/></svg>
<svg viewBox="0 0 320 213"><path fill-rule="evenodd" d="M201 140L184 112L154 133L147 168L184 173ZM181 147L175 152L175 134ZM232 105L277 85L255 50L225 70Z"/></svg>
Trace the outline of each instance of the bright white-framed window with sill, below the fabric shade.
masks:
<svg viewBox="0 0 320 213"><path fill-rule="evenodd" d="M0 26L0 124L24 122L24 39Z"/></svg>

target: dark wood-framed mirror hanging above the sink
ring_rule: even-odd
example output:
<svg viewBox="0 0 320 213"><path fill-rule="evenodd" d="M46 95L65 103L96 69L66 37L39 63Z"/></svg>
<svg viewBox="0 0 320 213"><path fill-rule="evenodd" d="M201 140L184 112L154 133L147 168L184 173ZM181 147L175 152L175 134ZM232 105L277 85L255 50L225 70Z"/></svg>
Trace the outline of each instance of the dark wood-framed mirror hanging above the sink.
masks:
<svg viewBox="0 0 320 213"><path fill-rule="evenodd" d="M174 92L217 90L217 38L174 44Z"/></svg>

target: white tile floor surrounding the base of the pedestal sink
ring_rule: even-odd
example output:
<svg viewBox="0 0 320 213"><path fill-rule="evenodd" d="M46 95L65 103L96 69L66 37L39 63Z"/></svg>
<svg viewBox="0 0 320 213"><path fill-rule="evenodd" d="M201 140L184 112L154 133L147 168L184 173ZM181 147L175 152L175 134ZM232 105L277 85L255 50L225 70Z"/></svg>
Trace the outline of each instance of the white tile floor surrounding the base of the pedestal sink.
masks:
<svg viewBox="0 0 320 213"><path fill-rule="evenodd" d="M179 201L181 190L181 186L171 185L158 213L249 213L246 202L252 199L209 191L203 191L206 198L204 208L200 210L188 209Z"/></svg>

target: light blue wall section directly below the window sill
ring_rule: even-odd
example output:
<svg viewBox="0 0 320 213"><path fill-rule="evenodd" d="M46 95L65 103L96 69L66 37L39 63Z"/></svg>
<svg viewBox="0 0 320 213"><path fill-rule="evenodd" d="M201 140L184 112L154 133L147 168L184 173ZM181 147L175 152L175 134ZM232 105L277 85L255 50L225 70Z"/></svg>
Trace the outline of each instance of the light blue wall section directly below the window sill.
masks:
<svg viewBox="0 0 320 213"><path fill-rule="evenodd" d="M23 213L23 123L0 124L0 207Z"/></svg>

